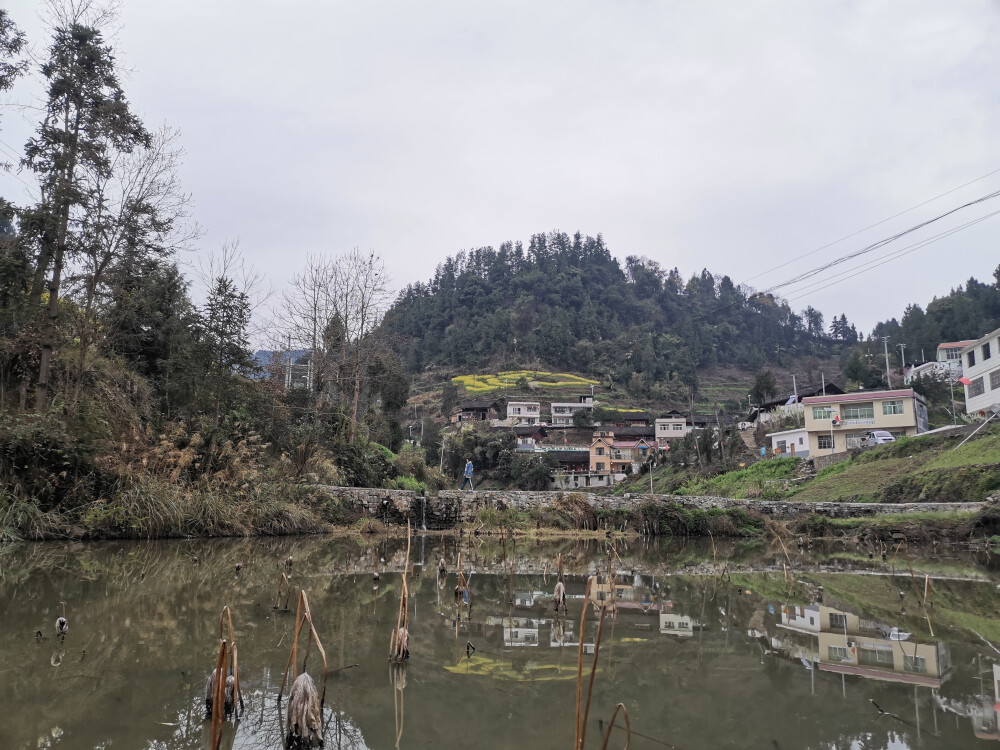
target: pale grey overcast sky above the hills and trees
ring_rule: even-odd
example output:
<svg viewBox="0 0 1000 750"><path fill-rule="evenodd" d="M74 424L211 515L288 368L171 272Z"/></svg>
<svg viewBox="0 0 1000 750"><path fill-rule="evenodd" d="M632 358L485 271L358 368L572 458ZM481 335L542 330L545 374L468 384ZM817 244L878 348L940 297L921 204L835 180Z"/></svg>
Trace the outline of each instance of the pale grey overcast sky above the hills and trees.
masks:
<svg viewBox="0 0 1000 750"><path fill-rule="evenodd" d="M41 4L4 5L44 56ZM374 250L402 287L552 229L765 289L1000 190L993 174L758 275L1000 170L997 39L995 1L123 0L116 44L136 111L181 131L202 246L239 237L276 289L311 253ZM20 151L36 114L4 108L0 144ZM867 332L991 280L998 240L1000 216L782 291Z"/></svg>

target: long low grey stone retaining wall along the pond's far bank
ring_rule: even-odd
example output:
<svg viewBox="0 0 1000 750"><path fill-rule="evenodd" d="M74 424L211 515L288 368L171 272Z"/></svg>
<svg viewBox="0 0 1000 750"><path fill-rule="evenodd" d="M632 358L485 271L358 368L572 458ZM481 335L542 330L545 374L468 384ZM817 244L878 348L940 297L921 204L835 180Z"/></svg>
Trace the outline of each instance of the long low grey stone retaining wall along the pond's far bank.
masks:
<svg viewBox="0 0 1000 750"><path fill-rule="evenodd" d="M784 500L734 500L726 497L626 494L595 495L589 492L525 492L518 490L480 490L462 492L442 490L437 497L421 497L412 490L382 490L358 487L319 487L346 507L386 523L416 528L443 529L457 523L474 521L480 510L494 508L530 510L550 508L562 500L582 500L594 510L635 510L652 499L658 503L687 508L746 508L772 518L794 518L810 513L830 518L857 518L912 512L976 511L982 503L797 503Z"/></svg>

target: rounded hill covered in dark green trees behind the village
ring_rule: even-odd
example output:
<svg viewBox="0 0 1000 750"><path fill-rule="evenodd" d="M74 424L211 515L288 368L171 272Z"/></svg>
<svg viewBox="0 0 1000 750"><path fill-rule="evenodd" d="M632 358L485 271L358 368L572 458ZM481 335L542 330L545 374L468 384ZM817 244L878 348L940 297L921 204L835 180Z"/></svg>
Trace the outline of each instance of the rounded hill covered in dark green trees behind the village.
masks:
<svg viewBox="0 0 1000 750"><path fill-rule="evenodd" d="M812 308L796 314L728 276L704 270L685 281L646 258L619 263L600 235L550 233L527 248L506 242L448 258L430 281L403 290L386 327L410 372L540 363L633 386L691 386L706 366L757 369L779 352L853 343L846 318L835 321L831 337Z"/></svg>

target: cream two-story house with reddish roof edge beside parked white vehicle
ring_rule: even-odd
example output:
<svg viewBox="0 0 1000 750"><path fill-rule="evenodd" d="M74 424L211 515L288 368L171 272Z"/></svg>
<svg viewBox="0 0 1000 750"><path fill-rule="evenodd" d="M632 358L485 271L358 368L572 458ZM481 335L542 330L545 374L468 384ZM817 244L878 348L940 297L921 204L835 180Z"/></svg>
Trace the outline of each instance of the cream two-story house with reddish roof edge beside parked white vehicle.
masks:
<svg viewBox="0 0 1000 750"><path fill-rule="evenodd" d="M802 405L811 456L857 448L869 430L896 437L927 431L927 402L912 388L813 396Z"/></svg>

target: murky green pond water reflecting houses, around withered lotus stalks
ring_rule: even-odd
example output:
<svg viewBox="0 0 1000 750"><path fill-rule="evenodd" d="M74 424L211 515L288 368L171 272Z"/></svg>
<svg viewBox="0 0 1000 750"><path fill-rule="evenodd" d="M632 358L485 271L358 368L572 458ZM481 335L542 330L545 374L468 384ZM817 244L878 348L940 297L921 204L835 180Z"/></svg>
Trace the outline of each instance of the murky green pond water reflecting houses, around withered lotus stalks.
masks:
<svg viewBox="0 0 1000 750"><path fill-rule="evenodd" d="M203 686L225 605L246 712L227 723L223 747L281 748L276 697L299 590L331 671L327 748L570 747L584 592L609 565L616 611L600 640L588 748L601 747L618 703L633 748L966 748L1000 739L1000 572L985 553L890 548L883 562L853 545L418 536L411 655L390 668L405 547L295 538L4 548L0 748L207 747ZM471 613L455 604L459 552ZM286 612L273 606L289 555ZM552 603L560 555L565 615ZM448 573L439 577L442 557ZM606 579L597 583L592 597L611 601ZM63 606L69 632L60 640ZM593 611L583 630L585 694ZM308 670L322 682L315 649ZM624 730L613 729L609 747L624 744Z"/></svg>

